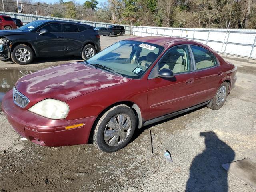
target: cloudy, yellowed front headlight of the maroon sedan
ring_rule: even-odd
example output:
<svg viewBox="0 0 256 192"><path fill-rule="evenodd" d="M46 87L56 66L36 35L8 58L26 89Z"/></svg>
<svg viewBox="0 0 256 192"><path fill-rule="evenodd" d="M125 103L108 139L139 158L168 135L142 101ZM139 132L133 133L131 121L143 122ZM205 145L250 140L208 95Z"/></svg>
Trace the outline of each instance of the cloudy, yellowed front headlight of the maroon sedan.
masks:
<svg viewBox="0 0 256 192"><path fill-rule="evenodd" d="M69 106L56 99L45 99L34 104L28 110L50 119L64 119L68 115Z"/></svg>

